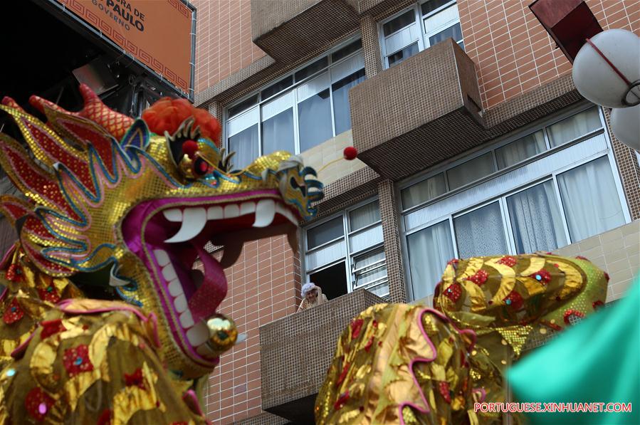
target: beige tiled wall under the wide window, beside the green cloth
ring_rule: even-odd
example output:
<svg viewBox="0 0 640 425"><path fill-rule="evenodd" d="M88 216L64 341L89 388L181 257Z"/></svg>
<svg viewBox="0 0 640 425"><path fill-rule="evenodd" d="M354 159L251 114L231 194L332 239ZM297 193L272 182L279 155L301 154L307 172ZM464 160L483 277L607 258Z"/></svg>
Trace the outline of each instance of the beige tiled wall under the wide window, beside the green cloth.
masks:
<svg viewBox="0 0 640 425"><path fill-rule="evenodd" d="M583 256L609 273L607 303L621 298L640 272L640 220L572 243L555 253Z"/></svg>

